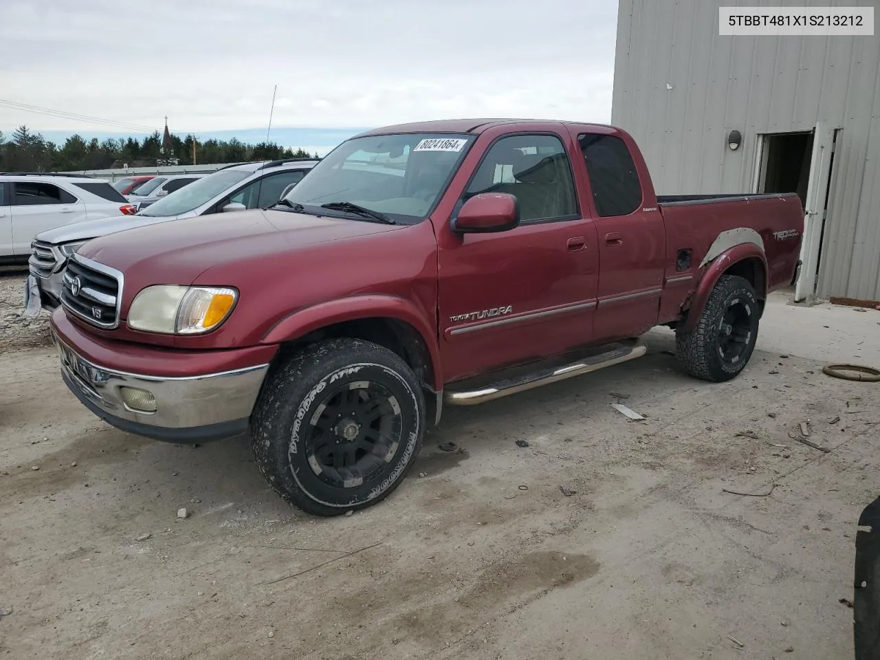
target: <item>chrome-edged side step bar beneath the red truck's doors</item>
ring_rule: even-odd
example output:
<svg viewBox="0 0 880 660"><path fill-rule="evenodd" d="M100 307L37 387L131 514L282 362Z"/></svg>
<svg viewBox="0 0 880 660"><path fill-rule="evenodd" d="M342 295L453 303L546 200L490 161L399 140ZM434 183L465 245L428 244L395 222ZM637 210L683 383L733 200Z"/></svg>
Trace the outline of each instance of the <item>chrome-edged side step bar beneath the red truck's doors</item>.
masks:
<svg viewBox="0 0 880 660"><path fill-rule="evenodd" d="M501 399L510 394L532 390L541 385L549 385L557 383L567 378L575 378L590 371L598 371L610 367L613 364L620 364L628 360L634 360L636 357L642 357L648 352L648 347L642 343L635 343L633 346L625 346L615 348L607 353L600 353L597 356L579 360L576 363L566 364L565 366L535 371L520 378L510 378L508 380L499 380L490 383L479 390L472 391L448 391L445 392L445 402L450 406L474 406L478 403L485 403L494 399Z"/></svg>

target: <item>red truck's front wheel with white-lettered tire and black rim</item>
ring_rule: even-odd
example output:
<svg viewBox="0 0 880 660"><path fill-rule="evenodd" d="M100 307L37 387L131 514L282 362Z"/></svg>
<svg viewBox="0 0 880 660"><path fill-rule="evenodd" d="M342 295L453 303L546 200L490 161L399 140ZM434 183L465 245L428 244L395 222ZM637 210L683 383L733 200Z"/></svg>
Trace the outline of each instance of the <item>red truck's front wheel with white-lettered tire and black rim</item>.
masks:
<svg viewBox="0 0 880 660"><path fill-rule="evenodd" d="M424 395L391 350L319 341L269 372L252 429L269 486L308 513L338 516L381 501L406 477L424 435Z"/></svg>

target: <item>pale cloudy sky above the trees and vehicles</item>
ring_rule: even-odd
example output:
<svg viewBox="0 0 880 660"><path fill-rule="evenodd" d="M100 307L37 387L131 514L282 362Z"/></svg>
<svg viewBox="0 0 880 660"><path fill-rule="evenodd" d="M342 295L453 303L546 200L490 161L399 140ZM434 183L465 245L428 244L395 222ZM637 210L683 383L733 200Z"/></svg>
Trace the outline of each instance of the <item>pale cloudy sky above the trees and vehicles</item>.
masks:
<svg viewBox="0 0 880 660"><path fill-rule="evenodd" d="M405 121L607 122L617 4L2 0L0 130L143 135L168 115L175 134L258 142L275 85L270 140L310 150Z"/></svg>

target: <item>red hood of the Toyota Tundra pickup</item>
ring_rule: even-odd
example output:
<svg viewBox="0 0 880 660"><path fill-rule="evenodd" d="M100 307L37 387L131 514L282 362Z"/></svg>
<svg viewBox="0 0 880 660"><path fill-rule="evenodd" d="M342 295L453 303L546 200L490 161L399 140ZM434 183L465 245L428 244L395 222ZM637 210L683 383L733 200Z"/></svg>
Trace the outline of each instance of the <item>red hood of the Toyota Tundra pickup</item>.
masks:
<svg viewBox="0 0 880 660"><path fill-rule="evenodd" d="M235 264L235 268L259 268L261 261L277 254L406 226L252 210L188 217L114 233L89 241L79 253L124 273L127 286L128 282L138 286L188 285L212 267Z"/></svg>

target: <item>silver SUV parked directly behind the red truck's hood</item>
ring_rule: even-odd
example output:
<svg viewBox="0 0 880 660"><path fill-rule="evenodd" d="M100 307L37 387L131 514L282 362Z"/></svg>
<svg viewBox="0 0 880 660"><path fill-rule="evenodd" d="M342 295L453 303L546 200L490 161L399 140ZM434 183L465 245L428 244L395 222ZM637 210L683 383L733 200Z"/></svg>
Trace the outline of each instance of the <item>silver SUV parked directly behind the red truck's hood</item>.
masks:
<svg viewBox="0 0 880 660"><path fill-rule="evenodd" d="M32 315L39 313L40 307L51 312L60 304L67 259L90 238L183 217L269 206L279 199L284 187L301 180L317 162L290 158L230 165L163 197L135 216L43 231L33 241L26 310Z"/></svg>

